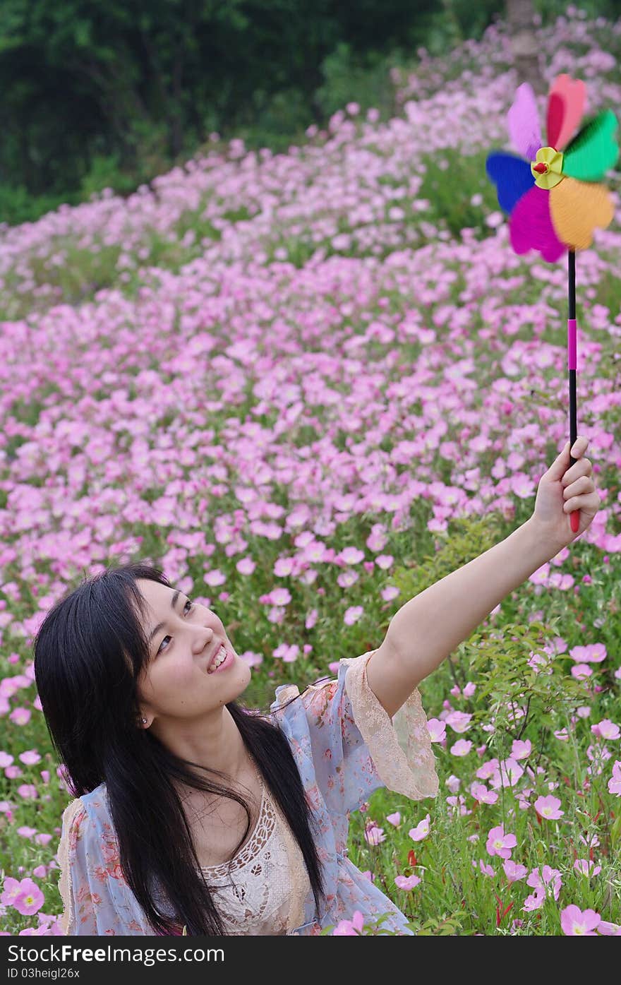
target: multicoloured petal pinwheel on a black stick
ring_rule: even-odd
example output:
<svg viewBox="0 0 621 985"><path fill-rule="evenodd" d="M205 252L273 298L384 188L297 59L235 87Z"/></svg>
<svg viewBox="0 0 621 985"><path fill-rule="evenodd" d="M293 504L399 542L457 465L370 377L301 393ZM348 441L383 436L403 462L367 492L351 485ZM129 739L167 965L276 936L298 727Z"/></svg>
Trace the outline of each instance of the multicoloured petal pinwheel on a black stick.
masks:
<svg viewBox="0 0 621 985"><path fill-rule="evenodd" d="M597 182L616 164L619 148L614 139L617 120L610 109L599 113L570 138L580 125L587 91L580 79L559 75L548 94L546 140L542 146L534 93L520 86L509 110L509 134L514 147L527 159L493 152L485 168L498 192L498 202L509 213L509 234L516 253L539 250L553 263L569 251L569 410L570 441L578 436L576 413L576 250L587 249L595 228L605 229L613 219L614 204ZM576 459L571 458L573 465ZM578 530L579 513L571 514Z"/></svg>

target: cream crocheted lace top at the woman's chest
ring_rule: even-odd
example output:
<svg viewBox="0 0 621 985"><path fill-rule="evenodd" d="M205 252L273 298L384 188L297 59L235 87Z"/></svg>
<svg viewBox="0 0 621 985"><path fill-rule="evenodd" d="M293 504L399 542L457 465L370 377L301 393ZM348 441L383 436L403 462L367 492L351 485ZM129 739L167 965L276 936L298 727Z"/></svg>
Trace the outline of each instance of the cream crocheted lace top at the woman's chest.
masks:
<svg viewBox="0 0 621 985"><path fill-rule="evenodd" d="M291 934L304 922L311 888L304 857L262 787L259 820L246 844L229 862L202 866L227 934Z"/></svg>

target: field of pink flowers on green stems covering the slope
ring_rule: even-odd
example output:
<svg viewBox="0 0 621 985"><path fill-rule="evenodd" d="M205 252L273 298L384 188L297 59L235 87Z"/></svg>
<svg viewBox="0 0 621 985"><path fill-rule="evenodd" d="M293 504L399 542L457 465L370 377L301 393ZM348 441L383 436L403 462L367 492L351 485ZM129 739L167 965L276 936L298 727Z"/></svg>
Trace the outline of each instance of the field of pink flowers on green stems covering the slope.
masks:
<svg viewBox="0 0 621 985"><path fill-rule="evenodd" d="M547 81L618 112L621 22L575 12L541 49ZM507 34L420 54L391 120L351 102L276 156L213 134L127 199L0 228L4 934L60 933L70 798L31 642L68 587L158 563L265 707L524 522L567 440L566 261L512 252L485 177ZM602 507L423 682L438 798L351 818L352 861L420 934L621 936L620 179L577 263Z"/></svg>

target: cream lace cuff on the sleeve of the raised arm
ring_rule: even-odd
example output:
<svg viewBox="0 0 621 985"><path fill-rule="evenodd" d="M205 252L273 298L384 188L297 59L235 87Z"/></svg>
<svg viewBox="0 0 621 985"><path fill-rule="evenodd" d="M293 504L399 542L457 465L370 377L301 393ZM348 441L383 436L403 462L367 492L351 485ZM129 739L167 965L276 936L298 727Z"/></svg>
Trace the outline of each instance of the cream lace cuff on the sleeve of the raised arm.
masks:
<svg viewBox="0 0 621 985"><path fill-rule="evenodd" d="M367 681L366 665L375 652L342 660L354 721L389 790L411 800L435 797L438 775L420 692L415 688L391 719Z"/></svg>

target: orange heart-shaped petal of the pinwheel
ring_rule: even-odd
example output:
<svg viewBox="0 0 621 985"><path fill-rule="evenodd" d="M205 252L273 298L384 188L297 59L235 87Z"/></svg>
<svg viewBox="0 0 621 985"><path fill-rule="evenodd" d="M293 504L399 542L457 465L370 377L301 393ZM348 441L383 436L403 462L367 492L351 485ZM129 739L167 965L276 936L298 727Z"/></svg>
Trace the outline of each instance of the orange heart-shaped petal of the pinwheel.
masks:
<svg viewBox="0 0 621 985"><path fill-rule="evenodd" d="M595 228L605 230L614 205L605 185L565 177L550 190L552 225L570 249L587 249Z"/></svg>

